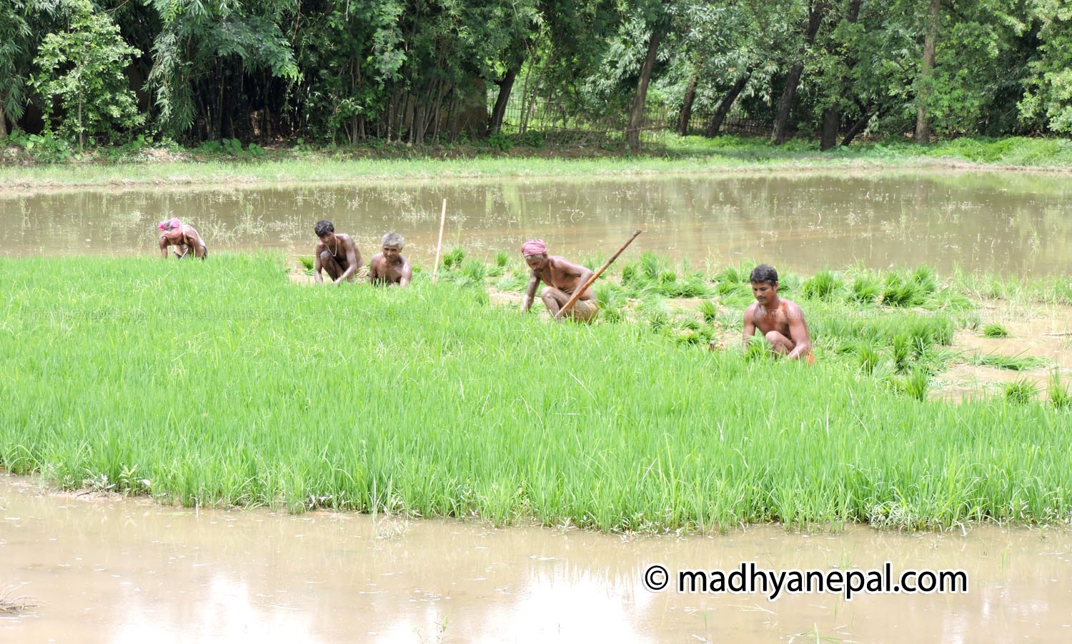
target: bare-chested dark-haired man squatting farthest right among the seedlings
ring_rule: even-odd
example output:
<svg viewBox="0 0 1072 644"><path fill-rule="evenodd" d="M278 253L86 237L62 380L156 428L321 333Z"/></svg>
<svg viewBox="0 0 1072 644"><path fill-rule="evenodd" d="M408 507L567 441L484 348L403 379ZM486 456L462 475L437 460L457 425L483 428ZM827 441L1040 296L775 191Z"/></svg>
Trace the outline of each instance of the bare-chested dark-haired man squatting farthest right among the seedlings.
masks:
<svg viewBox="0 0 1072 644"><path fill-rule="evenodd" d="M795 303L778 297L778 271L760 264L748 276L756 303L744 312L744 344L747 346L756 329L766 338L771 350L790 360L806 358L814 362L812 339L808 336L804 312Z"/></svg>

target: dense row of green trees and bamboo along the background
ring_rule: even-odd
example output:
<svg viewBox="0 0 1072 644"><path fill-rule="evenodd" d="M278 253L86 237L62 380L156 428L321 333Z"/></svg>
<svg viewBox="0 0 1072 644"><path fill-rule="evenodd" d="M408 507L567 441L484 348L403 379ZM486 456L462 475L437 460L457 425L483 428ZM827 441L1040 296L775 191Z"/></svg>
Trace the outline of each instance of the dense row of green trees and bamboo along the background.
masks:
<svg viewBox="0 0 1072 644"><path fill-rule="evenodd" d="M1063 0L0 0L0 138L1064 134L1070 39Z"/></svg>

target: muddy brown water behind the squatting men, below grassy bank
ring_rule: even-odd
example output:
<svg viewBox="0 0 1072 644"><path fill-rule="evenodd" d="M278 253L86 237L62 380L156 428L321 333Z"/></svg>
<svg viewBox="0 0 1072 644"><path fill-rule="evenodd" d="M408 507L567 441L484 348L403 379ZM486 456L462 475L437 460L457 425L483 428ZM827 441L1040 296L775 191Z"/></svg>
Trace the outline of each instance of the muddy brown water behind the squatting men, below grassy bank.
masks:
<svg viewBox="0 0 1072 644"><path fill-rule="evenodd" d="M1064 176L940 170L8 191L0 253L153 253L155 223L178 216L211 251L309 255L314 223L328 219L366 255L398 230L411 259L427 266L446 198L445 245L482 258L530 237L554 253L606 256L643 228L630 254L701 266L754 258L802 272L860 263L1069 274L1070 197Z"/></svg>

